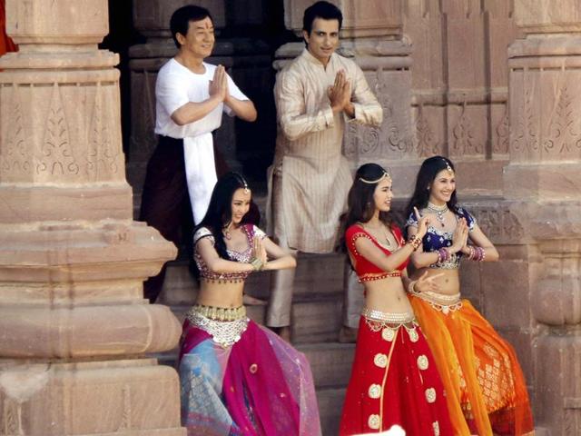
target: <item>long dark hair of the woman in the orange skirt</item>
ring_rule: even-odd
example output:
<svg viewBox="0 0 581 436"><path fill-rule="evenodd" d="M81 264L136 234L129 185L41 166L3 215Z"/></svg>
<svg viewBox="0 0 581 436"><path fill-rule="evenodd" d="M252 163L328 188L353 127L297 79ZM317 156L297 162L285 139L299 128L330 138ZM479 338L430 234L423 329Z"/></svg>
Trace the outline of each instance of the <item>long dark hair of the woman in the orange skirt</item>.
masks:
<svg viewBox="0 0 581 436"><path fill-rule="evenodd" d="M419 167L418 176L416 178L416 188L414 189L414 194L409 200L408 207L406 208L406 218L409 217L411 213L414 212L414 207L422 209L428 205L429 200L429 188L436 179L438 173L442 170L451 168L453 171L454 163L444 156L432 156L428 157ZM456 197L456 190L450 196L450 200L447 203L448 209L457 215L458 212L458 198Z"/></svg>

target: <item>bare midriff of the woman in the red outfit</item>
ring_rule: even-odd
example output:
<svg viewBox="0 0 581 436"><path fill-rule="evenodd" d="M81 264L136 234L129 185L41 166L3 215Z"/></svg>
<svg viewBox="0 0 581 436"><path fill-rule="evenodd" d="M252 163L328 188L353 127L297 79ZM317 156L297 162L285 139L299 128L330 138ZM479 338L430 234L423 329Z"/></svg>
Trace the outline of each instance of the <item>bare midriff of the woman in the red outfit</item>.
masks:
<svg viewBox="0 0 581 436"><path fill-rule="evenodd" d="M365 282L365 307L379 312L412 312L401 277Z"/></svg>

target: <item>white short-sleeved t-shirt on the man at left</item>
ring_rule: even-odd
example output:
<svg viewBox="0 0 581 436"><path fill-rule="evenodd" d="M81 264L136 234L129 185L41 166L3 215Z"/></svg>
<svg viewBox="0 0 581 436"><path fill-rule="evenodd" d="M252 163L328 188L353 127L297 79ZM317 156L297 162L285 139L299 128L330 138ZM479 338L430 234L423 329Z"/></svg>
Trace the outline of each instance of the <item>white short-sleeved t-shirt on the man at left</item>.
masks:
<svg viewBox="0 0 581 436"><path fill-rule="evenodd" d="M173 123L172 114L183 104L200 103L210 97L208 86L214 76L216 65L203 63L206 71L195 74L175 59L170 59L160 68L155 83L155 133L170 136L176 139L208 134L222 124L222 111L233 115L230 107L221 103L201 120L190 124L178 125ZM248 100L241 90L234 84L230 75L228 78L228 92L238 100Z"/></svg>

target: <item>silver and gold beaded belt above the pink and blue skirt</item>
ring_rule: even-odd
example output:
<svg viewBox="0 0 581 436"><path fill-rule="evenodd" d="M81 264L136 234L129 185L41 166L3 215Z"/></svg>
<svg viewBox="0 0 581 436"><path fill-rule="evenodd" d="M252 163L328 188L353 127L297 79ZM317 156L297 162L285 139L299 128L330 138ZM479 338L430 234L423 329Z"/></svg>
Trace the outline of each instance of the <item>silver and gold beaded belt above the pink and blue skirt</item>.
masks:
<svg viewBox="0 0 581 436"><path fill-rule="evenodd" d="M193 326L210 334L212 341L223 348L240 341L250 321L244 306L229 309L195 304L186 318Z"/></svg>

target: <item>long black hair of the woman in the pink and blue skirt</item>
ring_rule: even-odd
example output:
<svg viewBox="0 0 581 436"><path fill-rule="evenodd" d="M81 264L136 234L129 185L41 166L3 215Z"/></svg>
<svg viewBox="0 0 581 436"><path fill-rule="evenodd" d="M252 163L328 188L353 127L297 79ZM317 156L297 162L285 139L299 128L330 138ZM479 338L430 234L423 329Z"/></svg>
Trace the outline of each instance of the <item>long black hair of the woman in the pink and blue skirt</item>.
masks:
<svg viewBox="0 0 581 436"><path fill-rule="evenodd" d="M214 248L216 249L216 252L223 259L228 260L231 260L231 257L226 250L226 243L224 242L222 229L231 223L232 197L237 189L249 189L246 179L244 179L241 174L225 173L222 175L212 191L212 198L210 199L208 212L206 212L202 222L193 230L195 233L199 228L207 227L214 236ZM242 217L241 224L254 223L254 215L251 213L252 204L251 200L251 209L249 210L249 213L246 213ZM256 209L256 206L254 206L254 209Z"/></svg>

